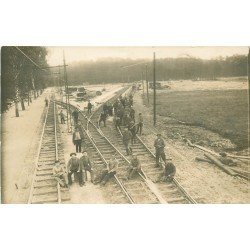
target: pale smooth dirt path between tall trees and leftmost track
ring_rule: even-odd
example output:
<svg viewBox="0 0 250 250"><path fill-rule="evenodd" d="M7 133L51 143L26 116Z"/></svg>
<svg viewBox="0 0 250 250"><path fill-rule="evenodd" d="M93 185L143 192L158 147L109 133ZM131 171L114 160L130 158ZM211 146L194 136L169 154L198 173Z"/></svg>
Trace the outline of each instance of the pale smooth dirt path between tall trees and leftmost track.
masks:
<svg viewBox="0 0 250 250"><path fill-rule="evenodd" d="M2 116L2 203L26 203L50 89L15 117L12 107ZM20 108L20 107L19 107Z"/></svg>

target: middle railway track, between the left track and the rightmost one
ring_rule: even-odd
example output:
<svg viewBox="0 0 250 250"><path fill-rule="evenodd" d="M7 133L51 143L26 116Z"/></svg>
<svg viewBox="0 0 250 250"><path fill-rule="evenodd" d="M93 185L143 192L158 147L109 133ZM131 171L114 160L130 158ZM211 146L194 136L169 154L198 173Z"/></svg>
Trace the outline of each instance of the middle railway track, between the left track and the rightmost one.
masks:
<svg viewBox="0 0 250 250"><path fill-rule="evenodd" d="M65 105L63 103L59 104ZM97 168L96 171L99 170L101 172L105 169L111 156L113 154L117 155L119 167L117 174L115 175L116 185L112 182L106 184L107 187L113 186L116 188L115 192L112 192L113 199L115 200L115 202L112 203L165 203L162 197L157 194L157 191L150 187L143 175L139 175L132 180L127 180L129 161L98 129L91 120L92 116L87 117L73 105L70 105L70 107L71 109L77 109L80 112L79 118L81 121L82 132L84 133L84 137L87 137L87 140L85 141L86 149L87 151L90 151L88 153L90 154L92 161L95 163L94 165ZM119 189L117 189L117 187ZM122 202L117 202L117 194L118 197L122 198Z"/></svg>

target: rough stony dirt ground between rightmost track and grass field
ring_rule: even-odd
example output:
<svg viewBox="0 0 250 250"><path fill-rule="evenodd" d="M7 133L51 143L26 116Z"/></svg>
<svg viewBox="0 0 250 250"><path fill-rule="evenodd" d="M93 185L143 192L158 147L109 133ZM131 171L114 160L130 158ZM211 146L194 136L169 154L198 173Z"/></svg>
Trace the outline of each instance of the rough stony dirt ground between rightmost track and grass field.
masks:
<svg viewBox="0 0 250 250"><path fill-rule="evenodd" d="M154 133L161 132L166 142L166 153L173 159L177 167L176 178L181 185L200 203L249 203L249 181L232 177L215 165L197 162L195 157L203 157L199 149L191 148L183 142L178 133L168 137L168 128L164 125L165 117L157 116L157 126L152 124L152 109L146 107L142 100L142 91L137 92L134 100L136 115L144 116L144 132L142 139L154 151ZM190 129L190 128L186 128ZM210 133L209 131L205 131ZM218 140L223 139L216 135Z"/></svg>

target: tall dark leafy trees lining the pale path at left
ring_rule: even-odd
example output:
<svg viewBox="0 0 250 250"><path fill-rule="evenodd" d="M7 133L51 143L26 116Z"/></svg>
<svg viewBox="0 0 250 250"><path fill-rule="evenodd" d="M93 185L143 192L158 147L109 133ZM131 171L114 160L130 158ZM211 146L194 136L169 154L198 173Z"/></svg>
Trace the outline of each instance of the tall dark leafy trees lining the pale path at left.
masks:
<svg viewBox="0 0 250 250"><path fill-rule="evenodd" d="M25 110L32 98L37 96L50 81L46 61L45 47L2 47L1 49L1 107L6 111L15 103L16 116L19 116L18 104Z"/></svg>

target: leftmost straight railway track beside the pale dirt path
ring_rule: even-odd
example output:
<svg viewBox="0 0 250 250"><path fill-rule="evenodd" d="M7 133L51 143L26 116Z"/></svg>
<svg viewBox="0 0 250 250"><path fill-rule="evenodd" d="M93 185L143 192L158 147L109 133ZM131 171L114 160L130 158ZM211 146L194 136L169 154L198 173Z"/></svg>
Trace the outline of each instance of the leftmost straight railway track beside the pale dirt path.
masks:
<svg viewBox="0 0 250 250"><path fill-rule="evenodd" d="M68 189L61 188L52 176L55 160L60 160L60 164L65 166L56 105L54 101L50 100L40 139L28 203L63 203L70 200Z"/></svg>

